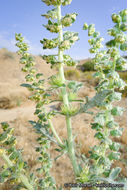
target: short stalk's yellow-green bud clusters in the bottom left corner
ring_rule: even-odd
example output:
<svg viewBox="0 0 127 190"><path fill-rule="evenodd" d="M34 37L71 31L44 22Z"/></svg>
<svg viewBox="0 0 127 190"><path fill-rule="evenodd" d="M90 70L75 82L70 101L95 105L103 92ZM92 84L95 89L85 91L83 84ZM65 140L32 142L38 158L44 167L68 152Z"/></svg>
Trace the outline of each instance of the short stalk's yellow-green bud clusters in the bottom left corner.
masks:
<svg viewBox="0 0 127 190"><path fill-rule="evenodd" d="M4 183L8 180L10 184L15 183L15 188L19 189L22 187L19 174L21 174L22 171L25 174L24 169L28 166L26 162L22 160L22 150L16 149L16 138L13 136L14 129L10 128L6 122L2 122L1 127L3 132L0 134L0 147L2 147L0 154L1 156L4 154L3 158L5 158L6 164L4 164L0 172L0 183Z"/></svg>

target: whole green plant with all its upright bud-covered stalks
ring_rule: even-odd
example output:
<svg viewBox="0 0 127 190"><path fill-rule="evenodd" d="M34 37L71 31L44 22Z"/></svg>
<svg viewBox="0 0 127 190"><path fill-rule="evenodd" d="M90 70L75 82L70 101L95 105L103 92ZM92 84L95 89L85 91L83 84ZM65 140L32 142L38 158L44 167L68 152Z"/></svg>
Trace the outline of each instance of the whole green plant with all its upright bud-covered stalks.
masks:
<svg viewBox="0 0 127 190"><path fill-rule="evenodd" d="M96 53L94 62L97 72L94 76L100 79L100 83L96 87L95 96L84 100L77 97L77 92L82 87L82 83L66 80L64 76L65 65L76 65L69 55L64 55L64 50L69 49L78 40L78 34L69 31L63 33L63 28L71 26L76 20L77 14L67 14L64 17L61 15L61 5L68 5L71 3L71 0L42 1L48 6L53 5L55 7L43 15L49 19L48 24L44 25L44 27L52 33L58 33L57 38L41 40L44 49L58 48L57 55L43 56L43 59L47 63L50 63L51 67L58 68L57 74L47 79L49 87L46 86L47 80L43 78L43 74L37 73L34 59L28 53L29 48L24 43L22 35L16 34L15 36L17 40L16 46L19 48L18 54L21 56L20 63L23 64L22 71L26 72L25 79L27 83L22 84L22 86L32 91L32 95L29 98L36 102L34 114L38 120L29 122L38 134L37 142L39 145L36 147L36 151L40 154L37 159L40 167L36 169L35 173L29 171L28 164L22 159L22 150L16 149L16 138L13 136L13 129L3 122L1 123L3 133L0 134L0 156L5 161L5 165L1 168L0 182L4 183L8 181L9 183L14 183L16 190L21 190L22 188L28 190L56 189L55 181L50 175L52 160L49 148L50 142L53 142L58 146L56 151L60 153L59 157L67 154L70 158L77 183L100 183L101 181L106 181L106 183L112 182L117 184L118 182L115 180L117 180L121 169L111 169L111 164L114 160L119 159L119 144L112 142L109 136L120 136L122 134L122 129L114 121L113 116L121 115L123 108L113 107L111 103L121 99L121 93L115 92L115 88L123 89L126 86L119 78L115 69L116 67L117 69L123 69L126 66L125 60L121 60L119 46L121 50L126 50L127 37L122 31L126 30L127 10L121 11L120 15L112 16L116 25L113 29L109 30L109 33L112 35L113 30L115 39L113 47L105 51L99 51L99 48L102 47L101 41L103 39L99 37L98 32L95 32L94 25L88 26L84 24L84 29L88 29L88 35L92 36L92 39L89 40L92 46L90 52ZM121 35L122 41L119 35ZM109 44L108 42L107 46ZM121 61L120 63L119 60ZM59 95L56 100L52 100L52 92ZM48 111L46 109L47 105L50 105L54 101L61 102L60 111ZM75 102L75 105L72 102ZM71 121L77 114L91 113L89 109L93 107L99 108L99 112L94 118L95 122L91 125L92 129L96 130L95 138L100 141L100 144L91 148L90 158L86 159L80 153L77 154ZM61 140L52 123L52 118L57 114L65 117L67 139ZM124 189L126 187L127 182L125 179ZM93 189L98 188L93 187Z"/></svg>

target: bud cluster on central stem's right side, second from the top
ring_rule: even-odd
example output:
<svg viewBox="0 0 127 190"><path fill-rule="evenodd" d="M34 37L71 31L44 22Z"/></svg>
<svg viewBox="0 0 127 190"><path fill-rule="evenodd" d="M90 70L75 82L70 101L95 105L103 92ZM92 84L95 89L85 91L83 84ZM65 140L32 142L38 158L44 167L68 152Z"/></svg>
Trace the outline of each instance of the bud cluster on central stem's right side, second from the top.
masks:
<svg viewBox="0 0 127 190"><path fill-rule="evenodd" d="M78 15L77 13L72 13L64 16L61 20L62 26L63 27L71 26L75 22L77 15Z"/></svg>

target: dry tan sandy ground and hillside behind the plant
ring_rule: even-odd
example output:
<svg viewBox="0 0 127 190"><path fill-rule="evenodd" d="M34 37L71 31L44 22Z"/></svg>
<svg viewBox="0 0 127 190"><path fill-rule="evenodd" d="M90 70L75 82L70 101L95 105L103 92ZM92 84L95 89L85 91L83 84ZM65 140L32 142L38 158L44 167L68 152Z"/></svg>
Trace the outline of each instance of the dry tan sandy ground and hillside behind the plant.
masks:
<svg viewBox="0 0 127 190"><path fill-rule="evenodd" d="M37 68L39 72L44 74L44 77L49 77L55 71L50 69L41 57L36 57ZM36 168L36 152L34 147L37 145L36 137L32 126L28 120L36 119L34 116L35 104L28 100L30 93L27 89L20 86L25 82L24 74L21 72L19 64L19 56L16 53L8 52L6 49L0 50L0 122L7 121L15 128L15 136L17 138L17 147L23 148L23 157L28 161L31 170ZM80 97L93 97L95 94L94 87L90 86L89 82L84 82L83 88L79 92ZM116 103L127 108L127 99ZM122 137L115 139L121 144L127 146L127 111L123 116L116 118L120 126L124 129ZM90 123L93 116L89 114L77 115L72 119L73 134L77 134L76 143L81 146L81 152L88 155L89 147L97 143L94 139L94 131L91 129ZM65 121L62 117L53 118L55 128L61 138L66 138ZM127 151L123 148L121 157L127 159ZM57 152L54 150L54 145L51 143L51 157L55 158ZM2 160L0 160L2 163ZM122 167L122 174L127 177L127 167L122 162L116 162L115 165ZM52 175L56 180L57 187L64 186L64 183L73 182L74 176L69 159L66 156L59 158L53 162L51 170ZM7 184L1 185L0 190L11 190Z"/></svg>

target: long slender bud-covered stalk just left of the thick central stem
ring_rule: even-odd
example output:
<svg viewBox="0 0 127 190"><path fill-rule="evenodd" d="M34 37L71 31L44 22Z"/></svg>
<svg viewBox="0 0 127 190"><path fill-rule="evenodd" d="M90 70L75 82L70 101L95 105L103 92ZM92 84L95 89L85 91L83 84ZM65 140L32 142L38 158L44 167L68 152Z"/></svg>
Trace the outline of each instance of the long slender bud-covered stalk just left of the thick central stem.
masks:
<svg viewBox="0 0 127 190"><path fill-rule="evenodd" d="M21 42L20 37L21 37L21 34L16 34L16 39L20 43L23 43ZM44 42L45 41L46 40L44 40ZM48 45L49 44L51 45L50 41L48 41ZM34 114L38 116L38 121L37 122L31 121L31 124L36 129L36 133L39 133L40 135L37 141L39 142L40 145L43 144L43 147L42 146L39 147L39 150L40 150L39 152L41 156L38 158L38 162L43 162L43 164L41 168L37 169L37 172L43 173L45 178L43 180L39 178L36 179L36 183L35 183L36 189L39 188L39 189L48 190L52 188L53 190L55 190L56 189L55 182L53 178L50 176L50 168L52 166L50 154L47 151L50 147L50 143L49 141L45 140L46 134L49 133L49 125L47 123L48 118L53 114L50 112L48 114L43 113L44 105L49 104L50 102L49 100L50 94L48 94L47 91L45 90L44 79L40 79L40 77L42 77L43 74L36 73L36 69L33 67L35 65L35 62L33 62L33 57L23 50L22 50L21 56L22 57L20 59L20 63L25 64L25 67L22 70L28 72L25 79L27 82L32 83L32 84L22 84L22 86L27 87L28 90L30 91L33 91L33 94L29 97L29 99L35 101L37 104L36 111ZM43 133L43 131L45 132Z"/></svg>

